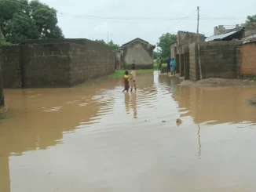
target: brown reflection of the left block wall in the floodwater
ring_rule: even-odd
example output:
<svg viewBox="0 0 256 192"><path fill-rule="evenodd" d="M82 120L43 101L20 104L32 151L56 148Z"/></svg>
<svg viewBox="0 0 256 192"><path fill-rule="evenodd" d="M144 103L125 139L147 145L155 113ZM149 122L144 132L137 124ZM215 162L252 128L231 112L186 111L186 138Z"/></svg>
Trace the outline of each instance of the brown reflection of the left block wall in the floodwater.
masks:
<svg viewBox="0 0 256 192"><path fill-rule="evenodd" d="M101 86L109 88L104 83ZM96 91L86 88L5 92L12 118L0 121L1 192L10 192L9 156L55 146L63 138L63 132L73 131L82 122L90 124L91 118L104 113L110 101L91 100ZM115 88L115 83L111 88Z"/></svg>

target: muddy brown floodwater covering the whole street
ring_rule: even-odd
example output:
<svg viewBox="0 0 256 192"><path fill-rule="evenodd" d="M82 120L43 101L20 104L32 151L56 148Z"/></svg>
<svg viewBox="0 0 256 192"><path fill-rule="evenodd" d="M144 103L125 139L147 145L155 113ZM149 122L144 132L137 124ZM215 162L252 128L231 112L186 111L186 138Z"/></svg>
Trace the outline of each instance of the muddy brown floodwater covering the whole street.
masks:
<svg viewBox="0 0 256 192"><path fill-rule="evenodd" d="M255 191L256 88L177 83L155 72L137 93L113 78L5 90L0 191Z"/></svg>

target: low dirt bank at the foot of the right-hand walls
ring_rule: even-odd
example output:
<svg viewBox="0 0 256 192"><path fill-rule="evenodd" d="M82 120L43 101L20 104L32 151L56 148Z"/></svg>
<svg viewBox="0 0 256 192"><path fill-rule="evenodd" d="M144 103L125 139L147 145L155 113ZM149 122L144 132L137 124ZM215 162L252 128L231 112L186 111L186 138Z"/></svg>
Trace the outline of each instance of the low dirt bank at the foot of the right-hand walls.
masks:
<svg viewBox="0 0 256 192"><path fill-rule="evenodd" d="M227 86L256 86L255 81L225 78L207 78L198 82L182 81L179 85L191 87L227 87Z"/></svg>

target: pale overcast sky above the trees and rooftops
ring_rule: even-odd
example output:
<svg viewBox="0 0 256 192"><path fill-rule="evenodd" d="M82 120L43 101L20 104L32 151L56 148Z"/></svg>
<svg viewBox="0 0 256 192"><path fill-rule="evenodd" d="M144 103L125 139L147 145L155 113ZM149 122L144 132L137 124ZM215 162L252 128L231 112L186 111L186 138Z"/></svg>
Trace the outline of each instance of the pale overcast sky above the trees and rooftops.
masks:
<svg viewBox="0 0 256 192"><path fill-rule="evenodd" d="M256 14L255 0L42 0L57 9L59 26L65 38L113 39L123 45L133 38L143 38L153 45L161 34L178 30L196 32L196 6L200 7L199 33L210 36L214 26L241 24L247 15ZM116 17L122 20L86 16ZM126 16L129 20L123 20ZM184 20L173 20L188 16ZM140 17L140 20L130 19ZM154 19L141 19L153 17ZM155 17L164 17L163 20ZM217 18L218 17L218 18ZM221 17L221 18L220 18ZM229 18L227 18L229 17ZM232 18L230 18L232 17ZM172 20L170 20L172 18ZM167 20L168 19L168 20Z"/></svg>

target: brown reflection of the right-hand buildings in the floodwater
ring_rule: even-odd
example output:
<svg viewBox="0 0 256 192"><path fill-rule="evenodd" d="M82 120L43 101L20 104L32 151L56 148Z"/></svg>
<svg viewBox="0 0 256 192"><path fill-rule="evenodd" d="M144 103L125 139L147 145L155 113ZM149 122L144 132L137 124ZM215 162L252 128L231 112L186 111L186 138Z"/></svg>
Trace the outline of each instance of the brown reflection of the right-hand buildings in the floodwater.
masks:
<svg viewBox="0 0 256 192"><path fill-rule="evenodd" d="M190 115L196 124L256 122L256 108L247 105L254 88L192 88L177 86L173 95L181 116Z"/></svg>

